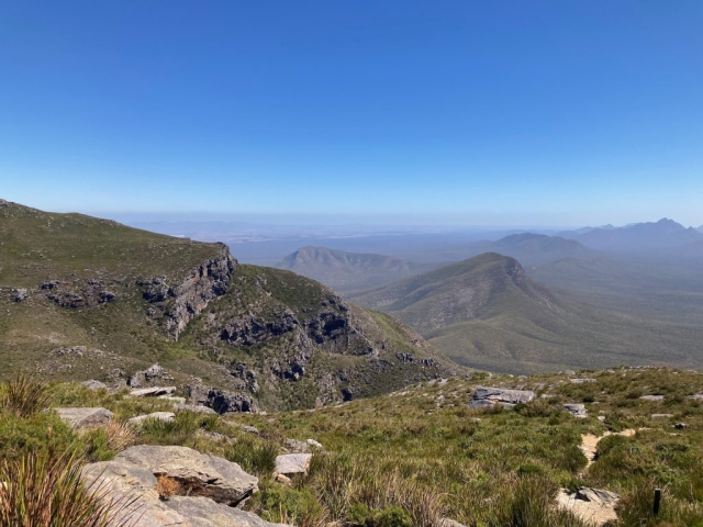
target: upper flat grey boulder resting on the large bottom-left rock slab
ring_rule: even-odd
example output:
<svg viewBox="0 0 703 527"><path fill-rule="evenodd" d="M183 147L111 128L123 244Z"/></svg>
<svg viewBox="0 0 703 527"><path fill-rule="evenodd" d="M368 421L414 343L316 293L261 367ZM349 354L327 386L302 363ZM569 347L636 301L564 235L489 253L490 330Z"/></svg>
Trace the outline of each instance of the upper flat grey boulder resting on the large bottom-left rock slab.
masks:
<svg viewBox="0 0 703 527"><path fill-rule="evenodd" d="M258 490L258 479L238 464L187 447L141 445L119 453L113 462L167 475L189 496L210 497L226 505L236 505Z"/></svg>

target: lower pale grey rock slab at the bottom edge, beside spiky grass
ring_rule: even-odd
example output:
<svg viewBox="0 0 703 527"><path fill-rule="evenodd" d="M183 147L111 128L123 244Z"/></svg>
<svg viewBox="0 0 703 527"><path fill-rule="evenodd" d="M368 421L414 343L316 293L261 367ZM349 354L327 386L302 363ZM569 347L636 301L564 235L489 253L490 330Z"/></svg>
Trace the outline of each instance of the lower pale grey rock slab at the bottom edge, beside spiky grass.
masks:
<svg viewBox="0 0 703 527"><path fill-rule="evenodd" d="M129 504L126 511L115 514L109 527L120 526L121 519L127 519L126 525L131 527L283 527L283 524L265 522L255 514L209 497L174 495L161 498L152 471L130 461L92 463L83 469L82 476L87 484L101 489L108 500L118 503L118 509L121 504Z"/></svg>

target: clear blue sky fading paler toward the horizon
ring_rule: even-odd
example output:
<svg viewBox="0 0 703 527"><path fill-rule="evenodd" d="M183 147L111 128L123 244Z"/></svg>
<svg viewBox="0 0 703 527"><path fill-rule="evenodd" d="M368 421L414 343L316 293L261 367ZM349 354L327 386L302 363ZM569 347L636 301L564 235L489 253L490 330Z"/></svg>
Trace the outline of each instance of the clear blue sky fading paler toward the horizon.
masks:
<svg viewBox="0 0 703 527"><path fill-rule="evenodd" d="M700 225L702 27L700 0L5 1L0 198Z"/></svg>

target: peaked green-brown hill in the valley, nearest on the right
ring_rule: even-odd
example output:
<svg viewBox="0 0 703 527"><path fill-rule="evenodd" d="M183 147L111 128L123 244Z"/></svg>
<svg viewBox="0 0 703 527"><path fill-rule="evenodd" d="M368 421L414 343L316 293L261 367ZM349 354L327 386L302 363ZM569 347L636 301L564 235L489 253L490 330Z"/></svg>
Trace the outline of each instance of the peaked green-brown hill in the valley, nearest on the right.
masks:
<svg viewBox="0 0 703 527"><path fill-rule="evenodd" d="M703 328L556 294L513 258L481 255L353 296L417 329L450 359L525 373L618 363L703 366Z"/></svg>

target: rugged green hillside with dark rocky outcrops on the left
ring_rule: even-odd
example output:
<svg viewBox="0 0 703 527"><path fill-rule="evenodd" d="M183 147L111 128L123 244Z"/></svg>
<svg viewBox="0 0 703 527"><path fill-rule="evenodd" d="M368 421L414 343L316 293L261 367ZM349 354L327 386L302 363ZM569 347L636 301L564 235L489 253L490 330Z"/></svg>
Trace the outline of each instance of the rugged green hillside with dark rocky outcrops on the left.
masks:
<svg viewBox="0 0 703 527"><path fill-rule="evenodd" d="M0 203L2 375L170 382L312 407L446 374L422 338L289 271L80 214ZM235 397L236 399L236 397ZM243 403L244 404L244 403Z"/></svg>

